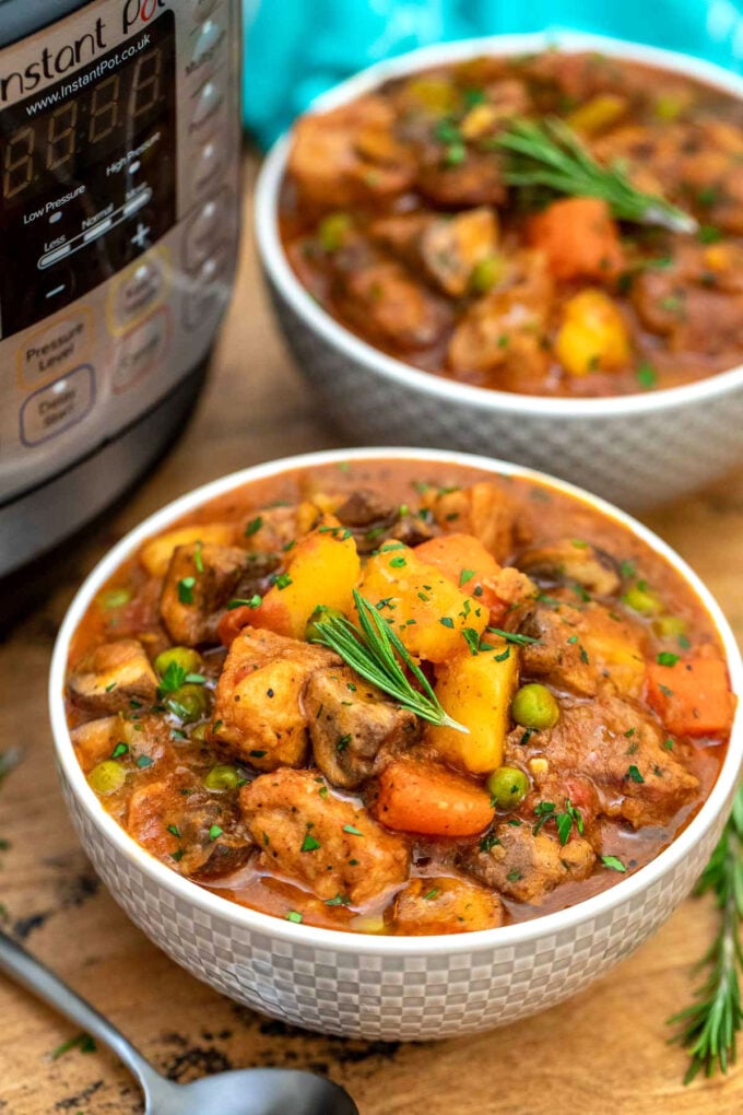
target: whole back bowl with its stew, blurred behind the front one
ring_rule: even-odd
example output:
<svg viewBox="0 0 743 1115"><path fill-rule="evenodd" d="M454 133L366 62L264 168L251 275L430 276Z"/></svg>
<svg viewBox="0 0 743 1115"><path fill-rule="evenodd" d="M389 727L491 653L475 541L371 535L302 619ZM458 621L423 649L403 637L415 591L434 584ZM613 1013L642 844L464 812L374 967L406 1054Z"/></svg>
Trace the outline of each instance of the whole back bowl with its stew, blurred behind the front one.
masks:
<svg viewBox="0 0 743 1115"><path fill-rule="evenodd" d="M426 48L275 145L258 250L355 440L495 452L643 506L743 458L742 153L743 79L690 57L576 35Z"/></svg>

